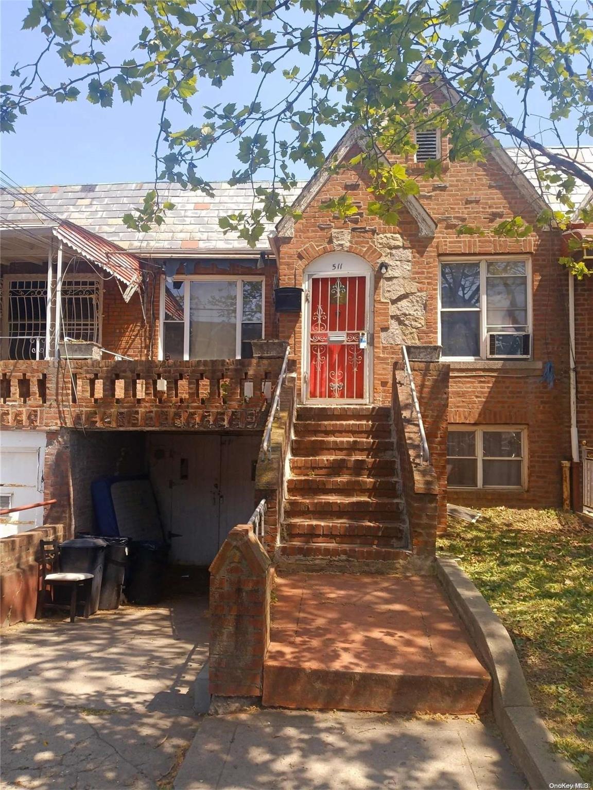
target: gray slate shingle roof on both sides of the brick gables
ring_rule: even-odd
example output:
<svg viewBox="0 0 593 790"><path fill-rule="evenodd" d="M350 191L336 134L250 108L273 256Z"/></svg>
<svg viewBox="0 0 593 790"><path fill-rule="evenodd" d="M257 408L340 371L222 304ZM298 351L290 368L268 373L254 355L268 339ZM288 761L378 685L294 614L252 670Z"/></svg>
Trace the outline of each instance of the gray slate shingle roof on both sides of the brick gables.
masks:
<svg viewBox="0 0 593 790"><path fill-rule="evenodd" d="M538 186L534 162L522 149L507 149L512 160L516 161L527 177ZM568 149L575 160L593 171L593 146ZM259 182L270 186L270 182ZM290 202L296 199L305 186L299 182L294 190L286 193ZM149 190L151 182L119 183L119 184L85 184L77 186L32 186L25 190L40 201L47 212L60 219L70 220L82 228L103 236L111 242L119 244L126 250L138 252L143 256L159 253L175 252L179 255L191 253L237 253L252 252L247 244L236 234L225 235L218 227L221 216L236 213L240 210L251 210L254 196L250 184L229 186L225 182L213 184L214 198L208 198L200 192L182 190L176 184L164 184L160 187L161 200L172 201L176 209L167 213L167 219L161 228L149 233L138 233L128 230L122 223L124 213L139 208ZM587 195L587 186L578 182L573 193L576 205ZM548 196L552 208L561 208L553 196ZM47 216L35 213L26 201L15 200L13 195L0 190L0 213L10 223L28 224L50 221ZM268 231L273 230L270 224ZM268 248L266 234L259 240L258 249Z"/></svg>

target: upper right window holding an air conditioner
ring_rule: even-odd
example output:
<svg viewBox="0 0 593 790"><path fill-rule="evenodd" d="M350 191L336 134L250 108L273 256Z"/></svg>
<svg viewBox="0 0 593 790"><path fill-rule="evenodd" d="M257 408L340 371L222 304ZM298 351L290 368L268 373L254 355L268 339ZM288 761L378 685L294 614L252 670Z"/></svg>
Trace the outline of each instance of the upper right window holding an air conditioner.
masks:
<svg viewBox="0 0 593 790"><path fill-rule="evenodd" d="M529 261L440 263L440 343L452 359L531 355Z"/></svg>

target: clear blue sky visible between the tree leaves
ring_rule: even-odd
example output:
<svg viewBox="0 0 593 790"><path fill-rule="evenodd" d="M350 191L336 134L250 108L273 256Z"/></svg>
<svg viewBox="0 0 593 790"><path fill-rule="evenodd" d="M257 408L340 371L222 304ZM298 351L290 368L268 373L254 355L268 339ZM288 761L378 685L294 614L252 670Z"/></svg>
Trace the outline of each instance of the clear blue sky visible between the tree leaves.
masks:
<svg viewBox="0 0 593 790"><path fill-rule="evenodd" d="M31 62L45 43L39 31L21 31L22 19L28 9L28 0L0 0L0 38L2 53L0 66L2 82L14 83L9 76L15 63ZM137 36L142 23L127 17L117 17L108 29L114 36L109 43L110 59L130 57L130 41ZM53 65L48 61L48 81L59 81L64 66L55 57ZM273 75L276 77L276 75ZM183 128L200 119L199 107L218 102L237 100L242 93L251 94L256 77L246 70L240 73L222 90L202 81L199 92L192 100L196 108L193 116L170 115L173 128ZM286 85L278 74L276 86L280 96L281 85ZM270 82L274 90L274 81ZM81 94L73 103L56 104L53 100L41 100L28 108L28 115L19 117L16 134L4 134L2 145L2 170L21 185L67 184L95 182L150 181L154 178L153 149L157 134L157 118L161 104L154 100L156 91L149 90L134 104L123 104L114 100L111 109L87 102ZM509 107L509 92L504 86L505 109ZM515 102L516 105L516 102ZM512 110L513 100L510 100ZM545 113L545 107L542 107ZM565 141L574 143L570 122L563 125ZM324 130L327 150L340 136L339 130ZM543 140L546 142L546 140ZM586 141L584 141L586 142ZM241 167L236 161L232 144L219 144L208 160L202 162L198 175L212 181L228 178L232 169ZM294 167L299 178L307 178L304 165ZM265 177L263 175L263 177Z"/></svg>

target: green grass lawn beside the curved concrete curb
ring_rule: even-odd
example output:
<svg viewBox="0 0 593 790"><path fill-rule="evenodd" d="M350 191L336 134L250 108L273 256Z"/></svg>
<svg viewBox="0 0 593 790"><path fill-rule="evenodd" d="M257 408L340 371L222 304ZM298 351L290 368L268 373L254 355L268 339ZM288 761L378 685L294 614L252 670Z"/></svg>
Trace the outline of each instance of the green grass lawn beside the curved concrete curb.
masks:
<svg viewBox="0 0 593 790"><path fill-rule="evenodd" d="M515 643L534 705L593 784L593 528L557 510L449 519L441 554L459 559Z"/></svg>

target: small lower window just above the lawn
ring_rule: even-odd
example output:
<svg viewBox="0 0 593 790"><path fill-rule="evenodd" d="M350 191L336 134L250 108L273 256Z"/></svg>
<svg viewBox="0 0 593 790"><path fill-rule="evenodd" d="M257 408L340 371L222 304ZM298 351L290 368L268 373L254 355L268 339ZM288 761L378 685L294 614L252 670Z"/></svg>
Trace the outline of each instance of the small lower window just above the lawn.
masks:
<svg viewBox="0 0 593 790"><path fill-rule="evenodd" d="M450 425L447 484L451 488L525 487L525 431Z"/></svg>

